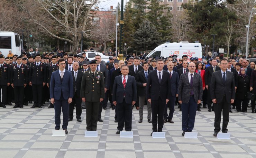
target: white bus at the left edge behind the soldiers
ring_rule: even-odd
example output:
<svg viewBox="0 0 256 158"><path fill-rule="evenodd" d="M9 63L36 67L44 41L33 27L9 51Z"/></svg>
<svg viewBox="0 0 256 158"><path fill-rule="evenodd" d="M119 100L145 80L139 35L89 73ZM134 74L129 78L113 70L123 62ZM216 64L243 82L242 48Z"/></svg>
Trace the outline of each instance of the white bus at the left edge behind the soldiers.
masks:
<svg viewBox="0 0 256 158"><path fill-rule="evenodd" d="M12 54L17 54L20 56L20 36L14 32L0 32L0 51L7 57L11 50Z"/></svg>

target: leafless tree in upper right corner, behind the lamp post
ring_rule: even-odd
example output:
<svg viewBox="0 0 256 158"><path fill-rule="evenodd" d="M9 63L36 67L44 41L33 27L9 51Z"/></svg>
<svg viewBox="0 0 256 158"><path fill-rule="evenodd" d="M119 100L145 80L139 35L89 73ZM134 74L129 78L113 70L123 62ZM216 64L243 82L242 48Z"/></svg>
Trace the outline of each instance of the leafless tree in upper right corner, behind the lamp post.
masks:
<svg viewBox="0 0 256 158"><path fill-rule="evenodd" d="M241 43L241 41L245 42L247 36L247 28L245 26L249 24L250 12L256 6L256 1L238 0L235 4L228 4L227 6L231 11L235 11L238 17L236 34L238 34L239 36L235 39L235 41L237 41L238 43ZM255 34L255 32L256 20L252 18L249 26L249 44L251 43L252 36Z"/></svg>

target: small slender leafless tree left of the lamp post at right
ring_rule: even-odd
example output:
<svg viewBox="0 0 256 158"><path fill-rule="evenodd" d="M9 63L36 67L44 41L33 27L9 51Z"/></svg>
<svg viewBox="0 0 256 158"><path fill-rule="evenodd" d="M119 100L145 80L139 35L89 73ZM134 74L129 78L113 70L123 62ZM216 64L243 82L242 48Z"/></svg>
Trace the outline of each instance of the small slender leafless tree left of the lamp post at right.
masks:
<svg viewBox="0 0 256 158"><path fill-rule="evenodd" d="M234 22L227 19L226 25L223 28L223 31L225 32L225 39L223 43L228 47L228 53L229 53L229 45L231 43L232 36L234 35L234 32L236 31L236 27Z"/></svg>

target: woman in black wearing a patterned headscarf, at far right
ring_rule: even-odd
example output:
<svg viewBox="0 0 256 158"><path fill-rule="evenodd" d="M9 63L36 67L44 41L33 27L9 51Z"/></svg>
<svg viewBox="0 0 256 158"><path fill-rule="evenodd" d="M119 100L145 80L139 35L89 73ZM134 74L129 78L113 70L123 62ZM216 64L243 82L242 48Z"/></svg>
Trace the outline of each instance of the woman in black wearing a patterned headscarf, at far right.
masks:
<svg viewBox="0 0 256 158"><path fill-rule="evenodd" d="M245 74L245 68L240 68L237 77L237 89L236 89L236 110L237 112L247 112L248 99L246 93L250 89L250 78ZM241 102L242 109L241 109Z"/></svg>

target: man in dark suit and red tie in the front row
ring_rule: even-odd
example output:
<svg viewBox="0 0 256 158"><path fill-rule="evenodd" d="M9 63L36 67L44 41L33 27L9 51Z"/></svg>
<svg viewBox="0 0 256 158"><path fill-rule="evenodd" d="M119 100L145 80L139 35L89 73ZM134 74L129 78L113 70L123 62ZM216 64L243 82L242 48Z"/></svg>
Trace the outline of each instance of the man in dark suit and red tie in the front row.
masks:
<svg viewBox="0 0 256 158"><path fill-rule="evenodd" d="M125 131L131 131L131 114L132 105L135 104L137 99L136 81L133 76L128 75L129 68L127 65L121 66L121 73L115 78L113 84L113 104L116 106L117 111L117 132L124 129Z"/></svg>

